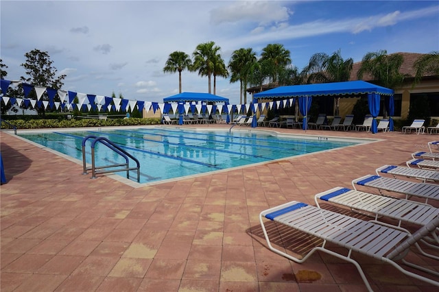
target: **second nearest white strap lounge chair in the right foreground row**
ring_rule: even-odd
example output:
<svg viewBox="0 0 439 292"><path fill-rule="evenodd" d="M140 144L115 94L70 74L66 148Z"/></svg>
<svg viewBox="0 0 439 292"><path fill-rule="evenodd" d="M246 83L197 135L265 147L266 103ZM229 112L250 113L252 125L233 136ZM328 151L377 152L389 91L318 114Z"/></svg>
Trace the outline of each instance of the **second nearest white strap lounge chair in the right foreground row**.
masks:
<svg viewBox="0 0 439 292"><path fill-rule="evenodd" d="M425 224L439 215L439 209L428 204L408 201L407 199L375 195L351 190L350 188L342 188L340 186L314 196L316 205L318 208L321 208L318 204L319 199L351 208L354 212L366 212L373 215L375 221L379 221L381 217L397 220L397 226L399 227L401 223L413 223L418 226L425 226ZM439 238L435 231L431 232L431 237L436 245L430 245L429 243L427 243L427 245L439 248ZM431 241L431 239L426 240Z"/></svg>

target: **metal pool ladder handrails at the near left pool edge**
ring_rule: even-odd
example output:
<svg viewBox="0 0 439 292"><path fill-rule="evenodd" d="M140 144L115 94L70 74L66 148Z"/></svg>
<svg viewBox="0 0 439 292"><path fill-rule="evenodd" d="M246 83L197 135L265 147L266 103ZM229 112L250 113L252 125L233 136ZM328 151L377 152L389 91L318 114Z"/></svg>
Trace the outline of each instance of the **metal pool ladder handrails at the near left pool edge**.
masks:
<svg viewBox="0 0 439 292"><path fill-rule="evenodd" d="M86 167L86 158L85 158L85 143L88 139L93 138L94 140L91 142L91 167ZM95 165L95 145L96 143L101 143L105 145L115 153L119 154L123 158L125 158L125 163L117 164L117 165L106 165L97 167ZM130 167L130 158L136 162L136 167ZM137 182L140 182L140 163L137 158L129 154L127 151L121 149L121 147L117 146L115 143L112 143L105 137L98 137L94 135L86 136L82 139L82 166L84 168L84 172L82 174L87 174L87 171L91 170L91 178L96 178L97 174L100 173L112 173L116 171L126 171L126 178L130 179L130 171L137 170ZM121 167L119 169L114 169L115 167ZM108 169L113 168L113 169Z"/></svg>

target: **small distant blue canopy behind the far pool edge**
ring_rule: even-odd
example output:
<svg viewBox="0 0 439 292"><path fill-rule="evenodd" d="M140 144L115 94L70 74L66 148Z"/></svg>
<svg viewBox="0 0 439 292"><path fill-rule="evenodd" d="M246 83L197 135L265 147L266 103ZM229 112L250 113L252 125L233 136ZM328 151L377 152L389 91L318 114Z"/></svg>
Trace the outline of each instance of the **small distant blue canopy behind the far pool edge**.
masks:
<svg viewBox="0 0 439 292"><path fill-rule="evenodd" d="M178 123L180 123L180 124L183 123L182 112L189 110L189 107L190 107L191 111L193 113L193 111L194 111L193 108L195 106L193 104L187 104L187 103L192 103L194 101L201 104L200 106L203 108L203 112L205 110L204 107L207 107L207 103L209 103L209 102L215 102L215 103L222 102L222 103L224 103L224 106L226 106L229 102L226 97L212 95L211 93L179 93L178 95L172 95L170 97L165 97L163 99L163 102L165 102L165 103L170 103L170 102L177 102L178 103L177 110L178 110L178 113L180 114L180 117L178 119ZM185 104L186 104L186 106L185 106ZM211 108L211 110L213 110L214 112L216 111L216 109L217 109L216 105L212 106L212 108Z"/></svg>

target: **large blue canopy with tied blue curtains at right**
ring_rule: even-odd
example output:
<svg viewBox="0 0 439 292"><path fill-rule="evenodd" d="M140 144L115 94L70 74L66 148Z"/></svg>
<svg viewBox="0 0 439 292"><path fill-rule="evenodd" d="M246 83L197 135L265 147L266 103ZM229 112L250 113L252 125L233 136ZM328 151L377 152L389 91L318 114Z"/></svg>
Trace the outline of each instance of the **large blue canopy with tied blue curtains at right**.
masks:
<svg viewBox="0 0 439 292"><path fill-rule="evenodd" d="M282 99L298 98L300 114L303 116L303 130L307 128L307 114L311 108L312 98L321 96L352 97L353 95L367 94L368 107L372 114L372 133L377 131L377 116L379 114L379 104L381 96L385 97L385 108L390 119L390 131L393 131L392 114L394 114L394 91L390 88L378 86L361 80L333 82L322 84L306 84L293 86L280 86L270 90L256 93L253 95L253 102L258 99Z"/></svg>

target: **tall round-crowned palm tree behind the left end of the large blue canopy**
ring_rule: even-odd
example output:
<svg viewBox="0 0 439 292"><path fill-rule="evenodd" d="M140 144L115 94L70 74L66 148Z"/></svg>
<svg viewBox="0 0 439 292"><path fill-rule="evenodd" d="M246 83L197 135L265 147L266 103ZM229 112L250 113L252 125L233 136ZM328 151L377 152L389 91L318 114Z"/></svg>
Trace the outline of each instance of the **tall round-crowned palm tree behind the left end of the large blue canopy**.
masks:
<svg viewBox="0 0 439 292"><path fill-rule="evenodd" d="M281 44L269 44L262 49L261 61L268 61L271 63L272 82L278 81L279 71L285 68L285 66L291 64L291 57L289 50L285 49Z"/></svg>

